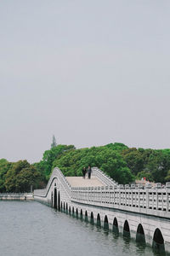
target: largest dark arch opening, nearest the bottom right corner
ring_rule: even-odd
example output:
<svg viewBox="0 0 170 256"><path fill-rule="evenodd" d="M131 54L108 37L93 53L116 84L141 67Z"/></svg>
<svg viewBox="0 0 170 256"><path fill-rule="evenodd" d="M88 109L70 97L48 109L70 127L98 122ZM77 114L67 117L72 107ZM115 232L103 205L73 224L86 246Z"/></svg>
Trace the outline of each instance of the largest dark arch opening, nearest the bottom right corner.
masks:
<svg viewBox="0 0 170 256"><path fill-rule="evenodd" d="M152 247L156 252L165 252L165 245L164 245L164 239L161 234L161 230L156 229L154 232Z"/></svg>

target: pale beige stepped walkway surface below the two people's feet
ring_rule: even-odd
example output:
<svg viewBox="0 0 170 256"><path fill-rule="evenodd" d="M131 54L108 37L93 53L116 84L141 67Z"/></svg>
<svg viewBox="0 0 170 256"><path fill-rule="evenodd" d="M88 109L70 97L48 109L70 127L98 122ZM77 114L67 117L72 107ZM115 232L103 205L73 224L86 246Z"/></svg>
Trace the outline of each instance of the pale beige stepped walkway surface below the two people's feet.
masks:
<svg viewBox="0 0 170 256"><path fill-rule="evenodd" d="M65 177L68 183L71 184L71 187L101 187L105 186L105 183L102 183L99 178L91 177Z"/></svg>

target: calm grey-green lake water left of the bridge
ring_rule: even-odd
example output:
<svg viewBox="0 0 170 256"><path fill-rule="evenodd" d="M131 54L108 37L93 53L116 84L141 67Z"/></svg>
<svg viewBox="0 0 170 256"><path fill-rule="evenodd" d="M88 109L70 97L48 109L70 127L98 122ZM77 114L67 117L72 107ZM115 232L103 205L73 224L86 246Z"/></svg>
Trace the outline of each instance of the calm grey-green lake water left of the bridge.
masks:
<svg viewBox="0 0 170 256"><path fill-rule="evenodd" d="M36 201L0 201L1 256L157 255Z"/></svg>

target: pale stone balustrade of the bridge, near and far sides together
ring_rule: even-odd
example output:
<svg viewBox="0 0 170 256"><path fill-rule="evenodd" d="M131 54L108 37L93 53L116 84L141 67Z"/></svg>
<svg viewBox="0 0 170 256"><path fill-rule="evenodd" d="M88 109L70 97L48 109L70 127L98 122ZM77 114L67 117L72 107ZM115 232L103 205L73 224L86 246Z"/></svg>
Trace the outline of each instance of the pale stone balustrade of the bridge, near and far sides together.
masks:
<svg viewBox="0 0 170 256"><path fill-rule="evenodd" d="M140 184L117 184L97 167L92 169L92 173L107 186L71 187L59 168L54 168L46 189L34 190L34 195L45 198L52 183L55 185L54 179L57 178L71 201L170 218L170 183L166 183L164 188L161 187L161 183L156 183L154 188L148 183L144 188Z"/></svg>

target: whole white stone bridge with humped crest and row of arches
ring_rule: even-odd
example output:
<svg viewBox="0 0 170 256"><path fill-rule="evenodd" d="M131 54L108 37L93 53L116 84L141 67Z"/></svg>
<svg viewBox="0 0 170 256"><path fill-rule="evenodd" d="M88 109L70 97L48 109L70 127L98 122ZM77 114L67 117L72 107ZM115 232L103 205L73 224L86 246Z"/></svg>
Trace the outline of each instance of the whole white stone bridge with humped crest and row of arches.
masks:
<svg viewBox="0 0 170 256"><path fill-rule="evenodd" d="M170 252L170 183L117 185L92 168L92 177L65 177L54 171L46 189L34 190L34 199L92 224Z"/></svg>

